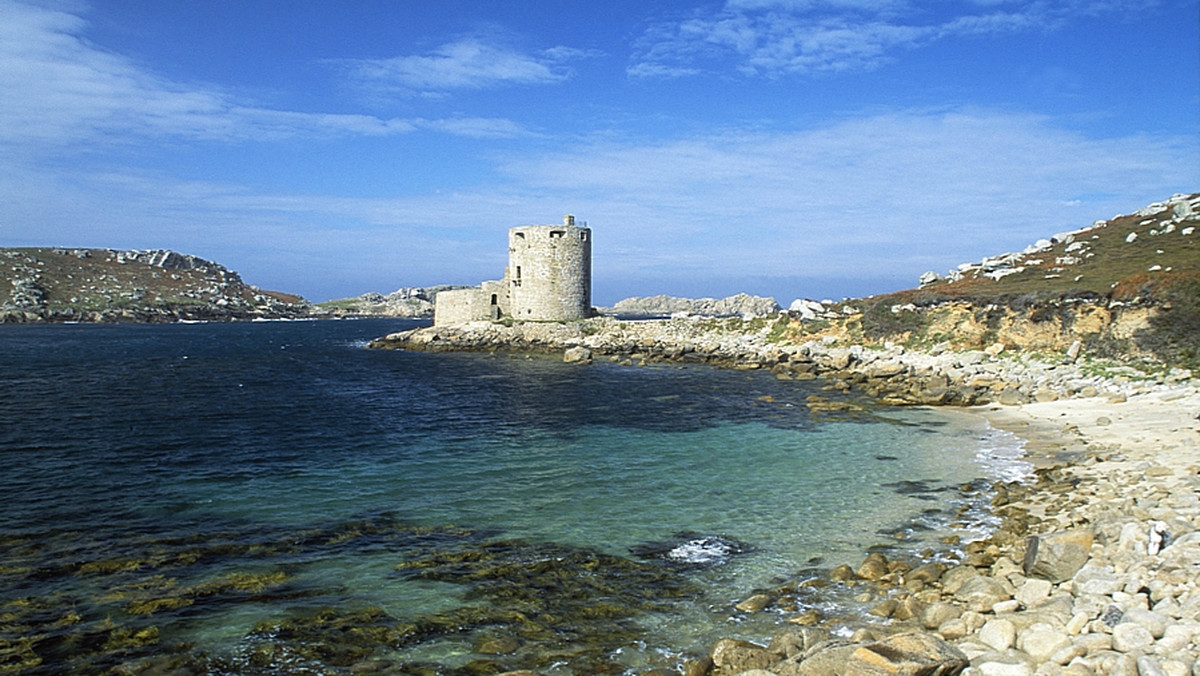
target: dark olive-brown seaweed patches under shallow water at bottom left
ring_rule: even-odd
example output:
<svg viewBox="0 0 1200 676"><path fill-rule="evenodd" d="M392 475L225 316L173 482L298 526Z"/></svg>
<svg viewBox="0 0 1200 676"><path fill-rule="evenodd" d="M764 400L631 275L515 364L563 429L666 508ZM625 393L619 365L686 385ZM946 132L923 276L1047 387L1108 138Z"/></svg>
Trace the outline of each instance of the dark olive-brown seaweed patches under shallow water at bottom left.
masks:
<svg viewBox="0 0 1200 676"><path fill-rule="evenodd" d="M492 674L552 664L618 672L623 668L612 660L613 651L640 640L637 617L670 611L676 599L697 593L678 567L661 561L413 526L391 516L302 531L246 526L206 537L121 536L0 540L7 590L58 590L0 599L0 674L376 668ZM288 572L330 554L378 549L396 552L395 575L462 586L461 605L397 617L377 606L353 606L336 588L299 586ZM164 630L186 623L199 606L270 606L301 598L330 604L260 622L229 654L206 654ZM281 612L290 606L277 605ZM444 640L470 646L466 652L476 657L455 665L406 657L414 646Z"/></svg>

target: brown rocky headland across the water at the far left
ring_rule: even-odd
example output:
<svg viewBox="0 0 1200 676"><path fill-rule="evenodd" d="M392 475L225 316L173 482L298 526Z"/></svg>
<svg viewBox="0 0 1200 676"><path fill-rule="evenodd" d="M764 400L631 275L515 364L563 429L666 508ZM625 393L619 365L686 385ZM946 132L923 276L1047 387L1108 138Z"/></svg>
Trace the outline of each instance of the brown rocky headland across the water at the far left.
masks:
<svg viewBox="0 0 1200 676"><path fill-rule="evenodd" d="M0 323L310 317L305 299L175 251L0 249Z"/></svg>

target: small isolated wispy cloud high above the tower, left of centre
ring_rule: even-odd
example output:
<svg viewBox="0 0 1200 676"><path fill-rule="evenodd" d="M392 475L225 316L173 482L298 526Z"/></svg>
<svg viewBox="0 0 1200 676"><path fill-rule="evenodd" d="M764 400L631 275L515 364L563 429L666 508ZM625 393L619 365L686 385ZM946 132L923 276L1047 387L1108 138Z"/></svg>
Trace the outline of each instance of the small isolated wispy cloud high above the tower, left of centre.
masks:
<svg viewBox="0 0 1200 676"><path fill-rule="evenodd" d="M456 89L553 84L571 76L568 62L586 55L553 47L521 53L479 37L466 37L427 54L346 60L360 86L374 92L438 94Z"/></svg>

